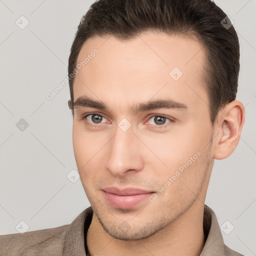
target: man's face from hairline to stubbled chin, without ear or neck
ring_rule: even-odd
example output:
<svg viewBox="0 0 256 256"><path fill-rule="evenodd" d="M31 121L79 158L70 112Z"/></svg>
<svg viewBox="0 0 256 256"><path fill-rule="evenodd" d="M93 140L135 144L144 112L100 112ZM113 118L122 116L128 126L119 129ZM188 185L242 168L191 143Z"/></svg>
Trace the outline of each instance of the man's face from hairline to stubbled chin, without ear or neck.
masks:
<svg viewBox="0 0 256 256"><path fill-rule="evenodd" d="M74 102L86 96L106 107L80 101L74 109L78 172L110 235L145 238L206 193L213 131L204 49L188 37L152 32L129 41L96 36L84 43L77 64L95 48L98 53L75 76ZM139 109L156 100L171 102Z"/></svg>

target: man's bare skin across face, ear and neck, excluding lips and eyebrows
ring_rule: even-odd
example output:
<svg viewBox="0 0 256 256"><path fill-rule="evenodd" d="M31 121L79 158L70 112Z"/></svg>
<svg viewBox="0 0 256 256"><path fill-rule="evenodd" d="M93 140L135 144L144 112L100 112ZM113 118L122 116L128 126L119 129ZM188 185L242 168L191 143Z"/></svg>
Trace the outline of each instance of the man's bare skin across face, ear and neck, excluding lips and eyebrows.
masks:
<svg viewBox="0 0 256 256"><path fill-rule="evenodd" d="M244 122L242 103L227 104L212 125L203 87L205 52L196 38L156 32L128 41L95 36L85 41L77 63L94 48L98 54L75 75L74 101L86 95L108 109L76 107L72 130L80 180L94 213L86 237L90 255L199 255L213 161L235 149ZM183 72L176 81L169 75L175 66ZM166 98L187 109L131 111L135 103ZM95 115L82 119L90 112L102 116L101 122ZM167 117L165 127L155 122L157 114ZM126 131L118 126L123 118L131 123ZM106 186L159 190L198 151L153 202L120 209L105 200ZM123 221L126 230L119 228Z"/></svg>

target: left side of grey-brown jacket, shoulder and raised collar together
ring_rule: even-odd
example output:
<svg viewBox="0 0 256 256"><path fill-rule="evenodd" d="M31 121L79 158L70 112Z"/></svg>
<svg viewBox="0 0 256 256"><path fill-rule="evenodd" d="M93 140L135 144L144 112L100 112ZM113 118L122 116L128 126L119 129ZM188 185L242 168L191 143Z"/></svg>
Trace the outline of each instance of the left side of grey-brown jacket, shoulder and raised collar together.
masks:
<svg viewBox="0 0 256 256"><path fill-rule="evenodd" d="M92 214L89 206L70 224L0 235L0 256L85 256L84 227L88 228Z"/></svg>

